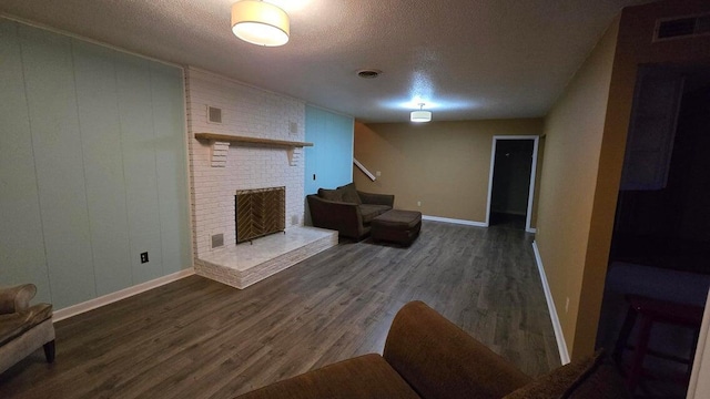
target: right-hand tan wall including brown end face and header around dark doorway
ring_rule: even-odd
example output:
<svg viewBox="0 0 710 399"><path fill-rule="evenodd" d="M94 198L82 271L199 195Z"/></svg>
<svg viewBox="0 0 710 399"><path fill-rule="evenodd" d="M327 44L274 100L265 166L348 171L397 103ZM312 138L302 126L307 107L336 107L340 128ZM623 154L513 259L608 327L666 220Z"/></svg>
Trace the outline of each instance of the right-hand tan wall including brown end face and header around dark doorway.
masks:
<svg viewBox="0 0 710 399"><path fill-rule="evenodd" d="M536 239L572 359L595 348L637 65L708 60L710 37L651 42L658 18L708 11L704 0L626 9L546 120Z"/></svg>

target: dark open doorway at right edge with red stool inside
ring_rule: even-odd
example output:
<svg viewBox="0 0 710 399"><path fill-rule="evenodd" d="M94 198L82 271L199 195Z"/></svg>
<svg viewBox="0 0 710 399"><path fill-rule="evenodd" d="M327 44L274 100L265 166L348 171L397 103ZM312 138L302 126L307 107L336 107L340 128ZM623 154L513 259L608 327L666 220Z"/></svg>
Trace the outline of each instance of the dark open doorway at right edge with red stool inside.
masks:
<svg viewBox="0 0 710 399"><path fill-rule="evenodd" d="M656 80L646 92L656 91L658 101L643 98L643 73ZM671 94L662 95L661 89L670 86L668 82L677 79L673 75L680 78L680 101L668 105ZM639 76L629 136L635 124L649 123L643 124L642 140L628 140L623 173L626 177L632 172L645 184L625 185L622 177L597 331L598 347L613 348L620 342L618 360L625 370L636 356L640 336L638 325L628 335L621 334L629 298L647 297L686 311L704 306L710 286L710 65L641 65ZM674 123L668 131L657 131L666 123L661 116L669 106ZM642 151L643 157L629 156L629 147ZM661 153L666 155L655 156ZM651 356L645 357L642 366L655 379L643 378L636 392L684 398L688 365L668 360L692 359L696 345L696 327L653 326L648 341ZM680 385L676 383L678 376L682 377Z"/></svg>

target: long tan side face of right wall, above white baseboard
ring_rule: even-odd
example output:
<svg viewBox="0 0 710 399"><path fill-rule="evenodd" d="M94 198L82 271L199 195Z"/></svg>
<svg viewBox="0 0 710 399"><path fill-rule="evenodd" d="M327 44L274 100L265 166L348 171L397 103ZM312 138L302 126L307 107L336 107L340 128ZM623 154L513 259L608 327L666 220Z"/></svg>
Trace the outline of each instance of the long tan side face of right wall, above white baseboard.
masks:
<svg viewBox="0 0 710 399"><path fill-rule="evenodd" d="M578 332L585 255L617 31L618 21L568 84L545 124L536 242L568 349L574 348ZM595 334L596 328L591 336ZM576 355L574 349L571 355Z"/></svg>

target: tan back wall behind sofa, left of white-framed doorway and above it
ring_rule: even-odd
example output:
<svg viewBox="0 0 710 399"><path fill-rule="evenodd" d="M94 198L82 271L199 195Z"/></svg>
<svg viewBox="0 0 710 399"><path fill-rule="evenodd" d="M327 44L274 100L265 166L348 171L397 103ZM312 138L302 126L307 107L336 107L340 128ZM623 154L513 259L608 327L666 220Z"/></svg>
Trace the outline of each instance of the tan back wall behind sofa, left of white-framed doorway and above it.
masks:
<svg viewBox="0 0 710 399"><path fill-rule="evenodd" d="M355 168L362 191L395 194L395 206L428 216L486 222L494 135L539 135L541 119L464 122L355 123ZM422 202L422 206L417 206Z"/></svg>

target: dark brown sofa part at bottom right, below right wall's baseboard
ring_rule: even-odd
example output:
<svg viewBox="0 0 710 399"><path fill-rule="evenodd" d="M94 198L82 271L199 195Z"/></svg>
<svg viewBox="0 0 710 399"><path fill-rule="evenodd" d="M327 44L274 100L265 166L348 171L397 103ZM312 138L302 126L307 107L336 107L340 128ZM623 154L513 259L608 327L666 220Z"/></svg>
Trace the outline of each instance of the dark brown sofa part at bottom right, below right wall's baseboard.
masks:
<svg viewBox="0 0 710 399"><path fill-rule="evenodd" d="M626 399L623 381L602 350L536 378L504 399Z"/></svg>

